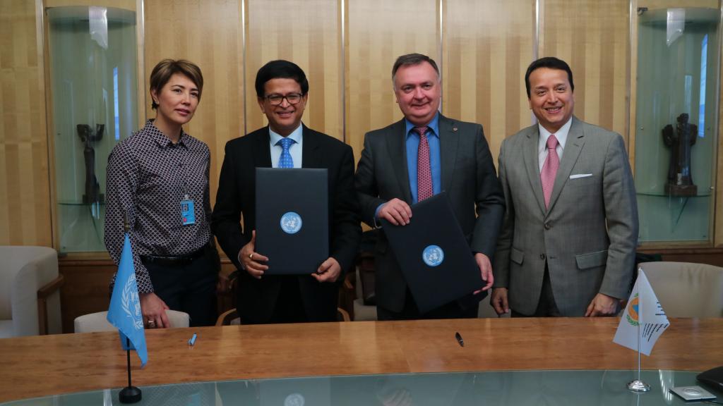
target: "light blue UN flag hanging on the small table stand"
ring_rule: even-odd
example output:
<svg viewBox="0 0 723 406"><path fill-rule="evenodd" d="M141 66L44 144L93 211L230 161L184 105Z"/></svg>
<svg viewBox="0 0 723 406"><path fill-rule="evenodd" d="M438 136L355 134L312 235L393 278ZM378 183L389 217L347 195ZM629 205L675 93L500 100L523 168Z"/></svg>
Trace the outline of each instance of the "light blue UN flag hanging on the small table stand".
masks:
<svg viewBox="0 0 723 406"><path fill-rule="evenodd" d="M116 284L113 287L111 306L108 307L108 322L113 324L121 335L121 346L124 350L136 350L140 358L141 368L148 361L148 350L145 347L145 330L143 317L140 313L138 284L135 280L135 267L131 254L131 241L126 233L123 243L121 261L116 273ZM127 346L126 337L131 341Z"/></svg>

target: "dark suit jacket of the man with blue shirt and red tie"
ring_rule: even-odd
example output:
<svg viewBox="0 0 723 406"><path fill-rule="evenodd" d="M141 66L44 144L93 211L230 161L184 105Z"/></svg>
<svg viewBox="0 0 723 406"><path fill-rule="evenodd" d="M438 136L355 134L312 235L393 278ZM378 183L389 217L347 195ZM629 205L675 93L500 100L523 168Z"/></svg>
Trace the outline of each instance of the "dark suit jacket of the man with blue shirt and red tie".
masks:
<svg viewBox="0 0 723 406"><path fill-rule="evenodd" d="M482 126L440 114L439 128L442 190L450 197L455 216L470 241L472 251L492 259L505 201ZM401 120L370 131L364 137L364 150L356 168L355 183L361 204L361 220L369 225L375 225L377 207L390 199L396 197L412 204L405 130L404 120ZM375 254L377 306L401 311L406 280L393 252L388 249L383 230ZM477 300L482 297L476 295ZM470 299L471 295L463 301L469 303Z"/></svg>

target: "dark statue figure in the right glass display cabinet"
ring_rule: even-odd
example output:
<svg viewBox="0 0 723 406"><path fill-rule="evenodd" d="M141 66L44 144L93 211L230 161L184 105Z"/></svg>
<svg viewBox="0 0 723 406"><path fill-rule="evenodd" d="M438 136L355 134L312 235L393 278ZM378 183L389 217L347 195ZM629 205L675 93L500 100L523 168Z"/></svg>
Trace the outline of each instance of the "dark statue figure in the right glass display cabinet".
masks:
<svg viewBox="0 0 723 406"><path fill-rule="evenodd" d="M670 124L663 129L663 141L670 148L665 193L671 196L695 196L698 194L698 186L693 184L693 176L690 174L690 149L696 143L698 126L688 124L688 114L685 113L678 116L677 122L675 131Z"/></svg>

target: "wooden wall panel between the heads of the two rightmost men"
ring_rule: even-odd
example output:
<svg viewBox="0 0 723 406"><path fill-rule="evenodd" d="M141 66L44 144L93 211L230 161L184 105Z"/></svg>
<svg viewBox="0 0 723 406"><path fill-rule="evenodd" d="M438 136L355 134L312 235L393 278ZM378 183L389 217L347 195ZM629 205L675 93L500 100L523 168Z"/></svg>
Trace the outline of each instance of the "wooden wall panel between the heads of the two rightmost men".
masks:
<svg viewBox="0 0 723 406"><path fill-rule="evenodd" d="M445 115L482 124L500 145L532 122L524 74L534 56L534 1L445 1Z"/></svg>

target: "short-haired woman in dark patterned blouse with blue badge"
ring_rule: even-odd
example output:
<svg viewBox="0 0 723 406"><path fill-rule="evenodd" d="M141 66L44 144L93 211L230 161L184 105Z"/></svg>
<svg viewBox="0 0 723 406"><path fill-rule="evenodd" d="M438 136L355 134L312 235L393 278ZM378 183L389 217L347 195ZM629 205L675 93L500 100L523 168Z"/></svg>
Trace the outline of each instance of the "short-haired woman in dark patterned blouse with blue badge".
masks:
<svg viewBox="0 0 723 406"><path fill-rule="evenodd" d="M159 62L150 75L155 120L108 157L106 248L117 264L127 217L141 311L150 328L169 327L168 308L189 314L192 326L213 325L216 317L219 262L208 223L210 152L182 128L202 88L195 64Z"/></svg>

